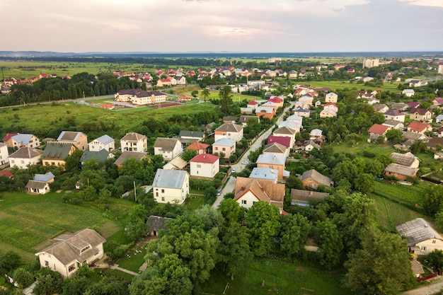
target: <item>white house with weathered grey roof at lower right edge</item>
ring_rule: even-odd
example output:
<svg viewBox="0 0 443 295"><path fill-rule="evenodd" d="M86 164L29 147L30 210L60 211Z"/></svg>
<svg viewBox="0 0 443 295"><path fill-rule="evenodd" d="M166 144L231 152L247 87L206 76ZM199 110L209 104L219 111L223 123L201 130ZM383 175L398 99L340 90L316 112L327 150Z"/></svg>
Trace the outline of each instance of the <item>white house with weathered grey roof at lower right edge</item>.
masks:
<svg viewBox="0 0 443 295"><path fill-rule="evenodd" d="M443 238L432 224L422 218L406 221L396 226L400 236L404 236L408 250L418 256L426 256L434 250L443 250Z"/></svg>

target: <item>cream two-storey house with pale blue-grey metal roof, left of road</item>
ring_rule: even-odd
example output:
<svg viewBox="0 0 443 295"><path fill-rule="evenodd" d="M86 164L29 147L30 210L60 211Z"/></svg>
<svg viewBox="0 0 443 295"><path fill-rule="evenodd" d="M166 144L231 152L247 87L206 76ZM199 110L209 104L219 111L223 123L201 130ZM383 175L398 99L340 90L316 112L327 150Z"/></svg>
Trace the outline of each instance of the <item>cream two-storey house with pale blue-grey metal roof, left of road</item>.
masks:
<svg viewBox="0 0 443 295"><path fill-rule="evenodd" d="M157 169L152 192L158 203L183 204L189 195L188 171Z"/></svg>

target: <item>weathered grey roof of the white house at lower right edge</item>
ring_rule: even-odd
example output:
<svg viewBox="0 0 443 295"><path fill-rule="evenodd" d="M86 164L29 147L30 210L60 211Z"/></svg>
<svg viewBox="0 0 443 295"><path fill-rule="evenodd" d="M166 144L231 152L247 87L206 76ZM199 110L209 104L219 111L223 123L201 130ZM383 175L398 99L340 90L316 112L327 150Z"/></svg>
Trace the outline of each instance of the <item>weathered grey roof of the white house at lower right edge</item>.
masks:
<svg viewBox="0 0 443 295"><path fill-rule="evenodd" d="M408 238L408 246L415 245L430 238L443 241L442 236L435 231L432 225L422 218L406 221L404 224L396 226L396 230L401 236Z"/></svg>

